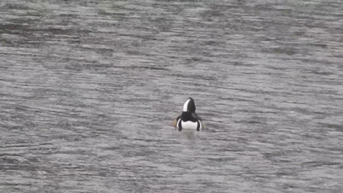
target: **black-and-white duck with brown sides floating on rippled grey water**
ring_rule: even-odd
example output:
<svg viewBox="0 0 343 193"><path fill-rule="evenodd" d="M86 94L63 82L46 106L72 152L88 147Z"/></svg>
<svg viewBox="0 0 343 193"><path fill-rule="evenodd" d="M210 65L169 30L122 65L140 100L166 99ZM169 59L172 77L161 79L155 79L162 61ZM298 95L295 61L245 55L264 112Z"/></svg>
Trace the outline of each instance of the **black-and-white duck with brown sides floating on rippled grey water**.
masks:
<svg viewBox="0 0 343 193"><path fill-rule="evenodd" d="M201 118L195 112L196 107L194 99L191 97L184 104L184 109L181 115L179 115L172 123L172 126L176 127L179 131L182 129L194 129L201 131L202 124Z"/></svg>

